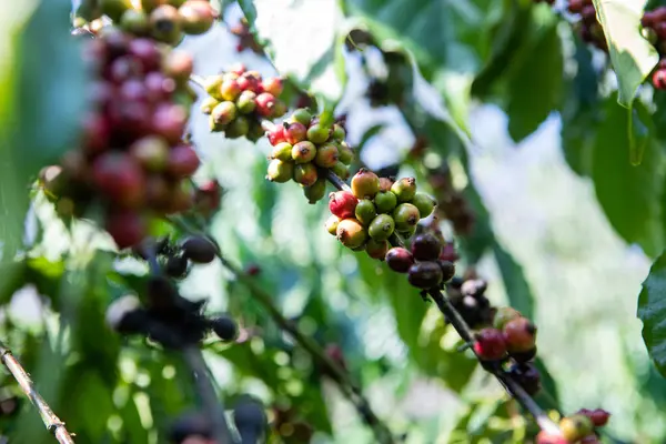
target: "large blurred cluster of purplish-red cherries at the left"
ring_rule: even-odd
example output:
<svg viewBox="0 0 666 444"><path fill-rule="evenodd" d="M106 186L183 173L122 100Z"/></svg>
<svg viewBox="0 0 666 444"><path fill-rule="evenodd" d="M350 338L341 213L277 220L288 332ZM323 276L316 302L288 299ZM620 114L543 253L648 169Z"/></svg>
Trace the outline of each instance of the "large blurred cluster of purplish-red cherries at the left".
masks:
<svg viewBox="0 0 666 444"><path fill-rule="evenodd" d="M147 218L189 210L196 152L182 141L193 102L189 54L110 30L87 42L99 80L83 140L40 174L62 216L101 210L119 249L140 242ZM95 213L97 215L97 213Z"/></svg>

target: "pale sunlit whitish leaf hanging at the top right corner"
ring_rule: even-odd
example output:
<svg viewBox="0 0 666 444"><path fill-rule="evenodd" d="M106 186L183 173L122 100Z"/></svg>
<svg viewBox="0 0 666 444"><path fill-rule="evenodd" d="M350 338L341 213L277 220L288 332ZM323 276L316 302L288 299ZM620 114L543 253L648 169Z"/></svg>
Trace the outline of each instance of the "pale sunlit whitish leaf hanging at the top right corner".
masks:
<svg viewBox="0 0 666 444"><path fill-rule="evenodd" d="M593 0L604 28L610 62L617 74L617 101L629 108L638 85L653 70L659 56L640 34L645 0Z"/></svg>

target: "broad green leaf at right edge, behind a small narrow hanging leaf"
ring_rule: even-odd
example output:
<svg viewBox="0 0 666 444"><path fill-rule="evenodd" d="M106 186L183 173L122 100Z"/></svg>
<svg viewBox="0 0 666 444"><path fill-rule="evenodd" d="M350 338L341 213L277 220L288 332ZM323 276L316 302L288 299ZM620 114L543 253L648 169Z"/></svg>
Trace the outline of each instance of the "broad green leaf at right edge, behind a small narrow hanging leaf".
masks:
<svg viewBox="0 0 666 444"><path fill-rule="evenodd" d="M606 101L593 150L592 179L606 218L628 243L638 243L646 254L655 256L664 245L662 230L664 154L652 138L646 141L644 160L632 165L627 150L629 119L615 98ZM636 103L636 112L646 110ZM648 118L643 118L648 122Z"/></svg>

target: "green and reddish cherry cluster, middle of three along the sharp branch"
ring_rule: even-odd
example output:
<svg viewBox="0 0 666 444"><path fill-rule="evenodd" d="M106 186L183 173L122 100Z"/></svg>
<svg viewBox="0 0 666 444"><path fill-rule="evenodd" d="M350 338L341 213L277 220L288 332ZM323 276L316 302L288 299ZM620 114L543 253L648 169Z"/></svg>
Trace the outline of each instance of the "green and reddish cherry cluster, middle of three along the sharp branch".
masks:
<svg viewBox="0 0 666 444"><path fill-rule="evenodd" d="M354 160L354 152L337 123L323 125L301 108L266 135L273 145L266 179L279 183L293 180L304 188L310 203L324 198L329 171L342 180L350 175L347 165Z"/></svg>

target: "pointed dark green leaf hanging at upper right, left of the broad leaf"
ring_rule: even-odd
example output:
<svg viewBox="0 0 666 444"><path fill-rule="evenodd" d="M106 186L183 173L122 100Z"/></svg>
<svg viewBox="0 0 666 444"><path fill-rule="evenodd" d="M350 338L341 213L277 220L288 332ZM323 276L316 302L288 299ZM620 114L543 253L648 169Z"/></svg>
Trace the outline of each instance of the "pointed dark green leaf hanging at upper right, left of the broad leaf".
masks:
<svg viewBox="0 0 666 444"><path fill-rule="evenodd" d="M508 132L516 142L536 131L562 100L564 59L557 28L549 26L537 39L508 79Z"/></svg>

